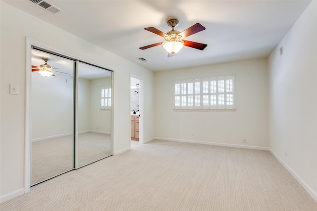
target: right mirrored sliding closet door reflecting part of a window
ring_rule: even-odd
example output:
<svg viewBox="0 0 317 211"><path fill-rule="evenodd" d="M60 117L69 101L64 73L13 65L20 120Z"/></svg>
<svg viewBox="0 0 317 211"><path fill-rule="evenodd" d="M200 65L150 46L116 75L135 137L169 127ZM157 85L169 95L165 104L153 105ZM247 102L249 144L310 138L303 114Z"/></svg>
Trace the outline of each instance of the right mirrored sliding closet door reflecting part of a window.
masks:
<svg viewBox="0 0 317 211"><path fill-rule="evenodd" d="M77 167L111 155L111 71L78 62Z"/></svg>

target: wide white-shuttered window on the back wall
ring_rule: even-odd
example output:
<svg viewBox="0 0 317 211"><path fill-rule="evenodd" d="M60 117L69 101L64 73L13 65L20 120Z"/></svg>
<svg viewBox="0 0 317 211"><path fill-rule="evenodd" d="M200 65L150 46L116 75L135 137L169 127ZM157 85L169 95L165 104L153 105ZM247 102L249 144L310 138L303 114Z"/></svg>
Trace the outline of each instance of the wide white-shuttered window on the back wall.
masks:
<svg viewBox="0 0 317 211"><path fill-rule="evenodd" d="M234 76L175 81L174 109L235 109Z"/></svg>

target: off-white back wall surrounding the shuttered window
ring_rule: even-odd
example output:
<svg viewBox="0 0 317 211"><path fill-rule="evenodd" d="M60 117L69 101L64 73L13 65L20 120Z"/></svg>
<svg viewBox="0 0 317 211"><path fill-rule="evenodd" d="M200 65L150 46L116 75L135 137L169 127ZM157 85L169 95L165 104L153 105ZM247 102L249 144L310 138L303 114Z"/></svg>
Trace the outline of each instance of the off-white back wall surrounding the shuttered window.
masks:
<svg viewBox="0 0 317 211"><path fill-rule="evenodd" d="M174 80L231 74L236 76L236 111L173 110ZM156 137L268 147L267 60L156 72L155 105Z"/></svg>

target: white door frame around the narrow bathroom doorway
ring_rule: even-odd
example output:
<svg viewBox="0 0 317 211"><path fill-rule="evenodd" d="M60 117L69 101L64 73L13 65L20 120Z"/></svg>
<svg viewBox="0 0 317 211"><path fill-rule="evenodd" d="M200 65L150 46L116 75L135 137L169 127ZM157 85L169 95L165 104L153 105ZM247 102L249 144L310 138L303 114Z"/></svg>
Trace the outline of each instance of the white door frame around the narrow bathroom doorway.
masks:
<svg viewBox="0 0 317 211"><path fill-rule="evenodd" d="M140 133L139 133L139 143L140 144L143 144L143 78L142 77L139 77L139 76L136 76L136 75L133 75L130 73L130 78L129 78L129 102L131 104L131 95L130 95L130 90L131 90L131 78L135 78L135 79L138 79L140 80L140 91L139 91L139 111L140 111ZM130 114L130 108L131 106L129 106L129 117L131 116ZM130 119L130 118L129 118ZM130 125L130 131L131 131L131 121L129 123ZM130 139L131 140L131 139ZM129 140L129 146L131 148L131 141Z"/></svg>

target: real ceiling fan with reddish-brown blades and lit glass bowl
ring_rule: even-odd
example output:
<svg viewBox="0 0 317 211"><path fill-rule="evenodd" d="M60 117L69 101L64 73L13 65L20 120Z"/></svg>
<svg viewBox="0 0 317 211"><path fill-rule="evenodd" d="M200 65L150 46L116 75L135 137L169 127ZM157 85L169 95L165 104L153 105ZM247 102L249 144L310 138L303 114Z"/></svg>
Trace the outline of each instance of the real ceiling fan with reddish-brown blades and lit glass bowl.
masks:
<svg viewBox="0 0 317 211"><path fill-rule="evenodd" d="M184 38L196 34L205 30L206 28L203 27L200 23L196 23L193 26L189 27L188 29L184 30L183 32L179 32L174 30L174 27L178 26L177 19L170 19L167 21L167 25L172 27L171 31L163 33L154 27L145 28L145 30L150 31L154 34L157 34L165 39L164 42L158 42L150 45L146 45L140 47L141 50L154 47L157 45L163 44L163 48L168 52L168 57L173 56L177 53L184 45L188 47L193 47L199 50L204 50L207 47L207 44L199 43L199 42L192 42L192 41L185 41Z"/></svg>

